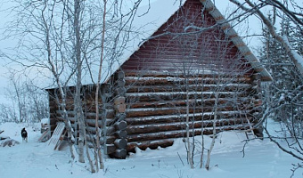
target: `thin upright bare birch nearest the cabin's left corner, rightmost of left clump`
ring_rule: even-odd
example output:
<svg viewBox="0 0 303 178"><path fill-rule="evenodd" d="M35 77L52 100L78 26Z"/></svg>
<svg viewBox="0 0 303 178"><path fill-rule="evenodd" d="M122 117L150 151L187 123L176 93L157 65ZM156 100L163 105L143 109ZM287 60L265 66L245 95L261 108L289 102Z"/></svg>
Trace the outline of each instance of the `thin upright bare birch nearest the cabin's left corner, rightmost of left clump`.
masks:
<svg viewBox="0 0 303 178"><path fill-rule="evenodd" d="M107 96L107 94L112 95L114 93L113 88L114 84L111 83L111 80L108 82L110 85L107 88L107 85L103 85L103 79L111 76L111 69L119 63L119 56L124 53L124 50L127 49L127 42L131 40L130 33L135 35L135 28L133 27L133 20L137 15L137 9L139 5L142 3L142 0L135 1L110 1L103 0L101 2L102 11L100 13L100 21L102 25L100 25L100 51L99 51L99 64L98 64L98 72L97 72L97 80L94 80L95 85L95 93L94 93L94 105L95 105L95 143L96 143L96 155L95 165L96 167L100 167L100 169L104 168L103 161L103 149L106 143L106 134L107 134L107 126L108 123L106 121L107 111L106 104L108 102L112 102L113 99L111 96ZM128 9L126 8L128 7ZM144 15L144 14L141 14ZM134 33L135 32L135 33ZM107 69L106 69L107 68ZM104 70L105 69L105 70ZM108 93L103 93L102 91L106 91ZM100 103L102 101L102 103ZM100 106L102 104L102 106ZM102 109L102 110L101 110ZM99 127L100 113L102 119L102 127ZM114 123L111 123L113 125ZM102 142L101 142L102 141ZM99 161L98 161L99 160ZM99 165L99 166L98 166Z"/></svg>

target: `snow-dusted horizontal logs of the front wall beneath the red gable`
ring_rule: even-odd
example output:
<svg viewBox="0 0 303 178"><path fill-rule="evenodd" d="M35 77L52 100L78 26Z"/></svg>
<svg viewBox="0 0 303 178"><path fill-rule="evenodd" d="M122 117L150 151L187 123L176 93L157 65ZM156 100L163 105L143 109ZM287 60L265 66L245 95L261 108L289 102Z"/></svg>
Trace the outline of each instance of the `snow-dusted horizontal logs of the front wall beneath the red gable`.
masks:
<svg viewBox="0 0 303 178"><path fill-rule="evenodd" d="M189 104L191 135L212 134L215 93L219 93L217 132L248 129L259 110L258 82L254 77L188 77L126 72L127 151L156 149L173 144L185 134ZM190 100L186 101L186 94Z"/></svg>

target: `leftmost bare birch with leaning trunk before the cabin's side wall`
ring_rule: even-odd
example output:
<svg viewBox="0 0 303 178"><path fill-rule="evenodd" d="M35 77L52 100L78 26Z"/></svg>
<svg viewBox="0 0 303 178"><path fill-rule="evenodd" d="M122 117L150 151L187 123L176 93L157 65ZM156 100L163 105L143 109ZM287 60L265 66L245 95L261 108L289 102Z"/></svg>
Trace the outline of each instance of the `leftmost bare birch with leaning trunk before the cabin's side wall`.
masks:
<svg viewBox="0 0 303 178"><path fill-rule="evenodd" d="M31 72L29 76L52 77L58 87L58 105L63 112L68 130L71 157L77 157L73 142L73 128L67 114L67 85L77 72L73 66L73 50L70 53L69 8L68 2L17 1L12 13L15 19L7 27L6 36L16 37L19 42L15 49L18 53L6 55L11 61L20 64L21 72ZM67 4L64 4L67 3ZM77 66L77 65L76 65ZM69 68L70 67L70 68ZM32 73L32 70L36 71ZM47 74L48 73L48 74ZM50 75L49 75L50 74ZM45 84L44 86L51 85ZM80 157L80 161L81 161Z"/></svg>

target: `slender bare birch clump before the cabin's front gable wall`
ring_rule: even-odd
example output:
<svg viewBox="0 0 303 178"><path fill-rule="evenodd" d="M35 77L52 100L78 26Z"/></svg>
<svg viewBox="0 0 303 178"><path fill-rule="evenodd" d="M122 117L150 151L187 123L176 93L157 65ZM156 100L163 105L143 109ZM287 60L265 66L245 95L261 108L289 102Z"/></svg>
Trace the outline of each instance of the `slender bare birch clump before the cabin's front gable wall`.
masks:
<svg viewBox="0 0 303 178"><path fill-rule="evenodd" d="M245 113L252 106L245 106L244 103L250 101L242 98L242 95L248 94L250 90L250 85L246 84L244 78L251 75L251 66L240 52L232 53L235 46L231 40L214 25L216 22L213 19L206 18L204 12L202 18L200 11L179 13L181 17L177 17L176 21L169 25L165 35L172 36L169 47L175 44L176 52L172 54L177 55L178 59L172 62L175 62L177 70L176 85L181 91L180 95L185 95L186 109L184 111L181 108L179 112L186 115L184 142L187 162L194 168L193 159L197 147L194 136L201 134L200 166L203 166L204 150L208 150L205 167L209 170L210 155L217 134L228 129L247 128L250 121L253 121L253 118L248 116L250 113ZM203 24L199 28L193 28L197 19L202 19ZM199 132L196 130L197 126L201 127ZM212 142L209 148L203 144L204 133L211 134Z"/></svg>

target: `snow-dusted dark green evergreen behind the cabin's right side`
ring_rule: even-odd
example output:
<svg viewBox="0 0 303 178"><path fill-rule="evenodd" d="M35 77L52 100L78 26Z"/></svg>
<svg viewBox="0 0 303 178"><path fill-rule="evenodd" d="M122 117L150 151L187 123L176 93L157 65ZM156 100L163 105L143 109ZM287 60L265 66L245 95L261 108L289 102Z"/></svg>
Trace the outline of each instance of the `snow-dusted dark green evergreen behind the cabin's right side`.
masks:
<svg viewBox="0 0 303 178"><path fill-rule="evenodd" d="M284 26L284 28L280 33L285 34L291 39L296 33L290 31L290 24L284 24L285 21L287 20L282 22L282 26ZM270 112L270 117L273 117L277 121L286 121L292 115L289 101L294 99L294 97L297 97L297 94L299 94L298 87L300 87L302 83L301 77L299 76L299 71L291 62L287 53L283 50L283 46L268 33L267 28L264 28L263 31L265 45L259 53L260 61L265 64L266 69L268 69L274 78L273 82L266 84L266 97L271 100L268 104L274 104L272 106L273 108L279 108ZM298 48L299 40L290 40L290 42L295 49ZM298 50L296 51L299 52ZM300 109L293 110L296 112L295 115L297 117L300 117L298 115L299 110Z"/></svg>

